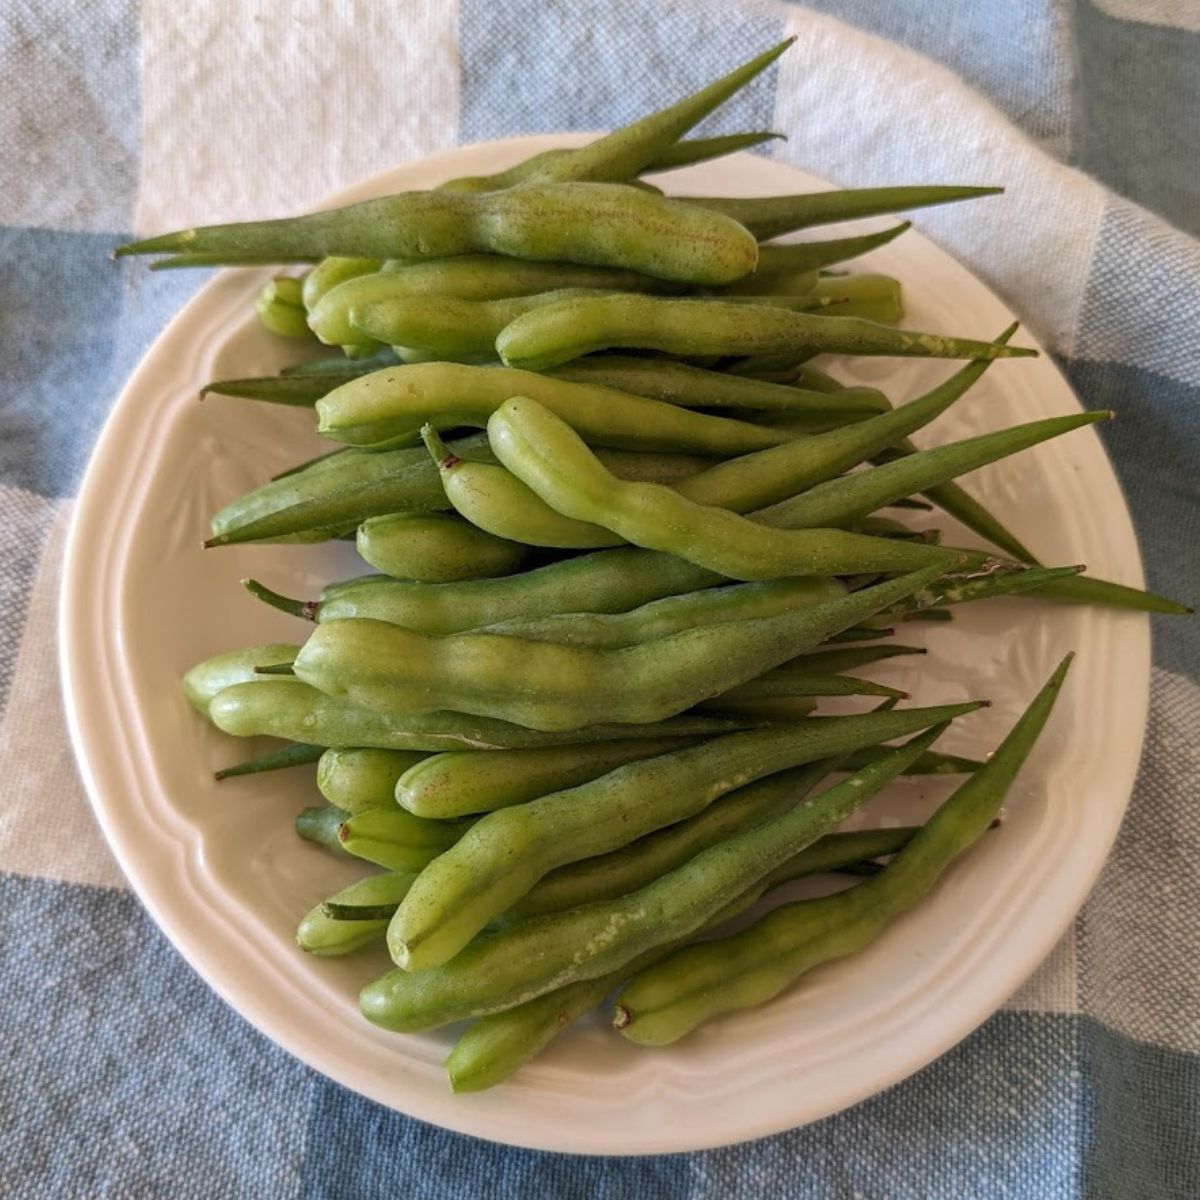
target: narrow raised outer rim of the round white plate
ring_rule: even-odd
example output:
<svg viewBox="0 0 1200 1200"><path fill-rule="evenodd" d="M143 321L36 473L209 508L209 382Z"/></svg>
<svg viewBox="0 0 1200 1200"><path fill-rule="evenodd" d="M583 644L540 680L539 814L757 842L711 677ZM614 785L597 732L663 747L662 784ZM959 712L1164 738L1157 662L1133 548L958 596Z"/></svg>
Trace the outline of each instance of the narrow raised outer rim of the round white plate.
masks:
<svg viewBox="0 0 1200 1200"><path fill-rule="evenodd" d="M470 161L473 155L494 152L497 150L502 151L522 151L523 154L535 154L542 149L550 149L552 146L562 145L578 145L587 140L594 134L587 133L551 133L551 134L527 134L510 138L490 139L479 143L472 143L469 145L457 146L452 150L443 151L437 155L430 155L416 160L410 163L400 163L392 166L385 170L372 174L368 178L360 179L352 184L348 188L340 190L336 194L326 198L318 205L318 208L328 208L330 205L336 205L340 203L346 203L344 197L347 194L353 194L362 191L364 188L374 187L382 181L391 176L397 169L404 167L412 167L420 163L422 167L436 168L439 164L451 164L461 163L463 160ZM730 161L736 161L740 157L757 157L746 154L731 156ZM790 163L780 162L779 160L768 160L779 168L784 168L791 172L799 172L809 178L809 173L802 172L800 168L796 168ZM832 186L832 185L830 185ZM934 239L923 232L917 232L917 236L923 238L929 241L932 248L940 253L946 254L950 258L954 264L967 275L971 276L976 287L986 292L998 305L1002 305L1007 310L1007 305L998 296L995 295L991 288L982 281L968 266L959 262L954 256L948 254L947 251L942 250ZM86 658L86 617L89 604L94 598L86 594L85 582L89 575L89 554L83 551L84 542L88 539L88 534L91 527L97 523L102 523L100 517L103 512L103 481L106 475L112 470L112 458L114 452L119 452L118 442L121 434L121 426L128 419L130 412L134 404L134 400L139 391L144 386L144 378L150 376L154 370L154 360L156 352L160 347L168 342L170 338L178 337L193 319L196 312L204 306L212 302L212 296L215 292L218 292L222 281L232 276L232 271L221 271L216 274L212 278L206 281L203 287L193 295L175 316L166 324L162 331L157 335L150 347L146 349L142 359L139 360L137 367L131 373L125 386L121 389L119 396L114 401L108 416L106 418L103 428L100 437L96 439L95 446L92 449L91 456L89 458L88 468L84 473L83 480L80 482L77 500L74 504L74 510L71 516L70 528L67 532L67 538L64 548L62 558L62 578L59 589L59 601L58 601L58 636L56 636L56 648L59 653L59 676L60 685L62 690L62 704L64 713L66 716L67 732L72 746L72 751L76 757L76 762L79 769L80 778L84 782L85 791L89 797L92 811L96 815L96 820L104 834L104 839L112 850L118 864L121 868L122 874L130 881L133 893L137 895L139 902L150 913L151 918L158 925L158 928L166 934L167 938L172 942L175 949L182 955L185 961L200 976L200 978L210 986L221 998L229 1004L240 1016L250 1021L260 1033L269 1038L275 1045L281 1046L288 1054L299 1058L310 1069L317 1070L324 1076L332 1079L334 1081L346 1086L368 1099L372 1099L394 1111L403 1112L406 1116L415 1117L416 1120L422 1120L428 1123L434 1123L442 1128L449 1130L469 1134L486 1140L496 1141L503 1145L520 1146L530 1150L542 1150L542 1151L556 1151L565 1153L577 1153L577 1154L612 1154L612 1156L632 1156L632 1154L661 1154L661 1153L686 1153L696 1150L713 1148L724 1145L732 1145L737 1142L751 1141L758 1138L769 1136L775 1133L780 1133L786 1129L797 1127L797 1124L806 1124L812 1121L823 1120L826 1116L832 1116L834 1112L841 1111L854 1104L863 1102L864 1099L878 1094L880 1092L894 1086L900 1080L914 1074L928 1066L934 1060L941 1057L947 1051L953 1049L959 1042L966 1036L978 1028L985 1020L988 1020L997 1008L1003 1003L1006 996L1010 995L1015 989L1018 989L1021 983L1025 982L1042 964L1046 954L1057 944L1058 940L1062 937L1063 932L1074 922L1079 908L1086 900L1087 893L1091 890L1096 882L1099 872L1103 870L1105 862L1111 852L1112 842L1115 841L1117 830L1120 829L1121 821L1123 820L1126 809L1132 796L1133 786L1136 780L1138 766L1140 762L1141 749L1145 740L1146 733L1146 720L1148 715L1150 706L1150 620L1148 617L1141 614L1140 619L1136 622L1128 622L1128 636L1138 637L1139 646L1135 647L1135 656L1138 659L1138 680L1139 685L1136 688L1136 695L1130 691L1126 692L1126 707L1127 709L1134 709L1133 714L1138 719L1138 748L1135 754L1130 754L1132 769L1128 780L1128 787L1122 786L1122 793L1124 794L1124 803L1117 809L1112 806L1109 812L1109 828L1104 830L1104 850L1103 853L1097 853L1094 862L1090 864L1090 870L1086 872L1086 878L1080 876L1073 892L1078 892L1078 902L1072 902L1069 906L1064 906L1057 914L1056 920L1049 922L1044 929L1046 932L1037 943L1034 952L1026 954L1027 970L1024 971L1020 977L1007 977L1003 984L1007 989L998 1000L992 1002L989 1000L985 1004L976 1004L973 1007L968 1006L967 1009L959 1013L958 1020L952 1020L947 1022L946 1032L943 1037L937 1042L936 1045L926 1045L917 1055L910 1055L904 1064L898 1064L890 1072L883 1075L875 1076L870 1082L862 1085L857 1088L848 1088L845 1096L839 1097L839 1103L834 1106L823 1109L820 1114L814 1114L812 1116L804 1117L798 1122L792 1118L785 1117L784 1121L774 1121L769 1124L762 1126L754 1130L737 1129L734 1130L732 1138L722 1134L716 1136L695 1136L694 1130L682 1130L682 1136L668 1136L668 1138L649 1138L646 1142L640 1142L634 1147L624 1146L618 1139L624 1138L623 1134L613 1134L607 1139L601 1139L595 1145L580 1145L572 1144L570 1138L564 1138L562 1134L557 1136L545 1136L547 1132L556 1133L557 1130L530 1130L528 1138L515 1135L511 1126L506 1124L503 1130L494 1128L494 1123L488 1122L486 1118L479 1118L479 1110L469 1103L469 1097L452 1097L449 1090L446 1091L446 1098L452 1100L452 1105L442 1104L438 1105L437 1116L428 1116L421 1111L414 1110L412 1108L403 1109L397 1104L397 1098L395 1094L380 1094L378 1088L372 1088L370 1086L364 1086L361 1080L355 1081L347 1075L353 1075L353 1070L349 1072L337 1072L331 1070L328 1062L314 1062L313 1058L320 1058L319 1052L314 1054L314 1046L312 1043L302 1044L300 1039L282 1037L276 1028L271 1025L271 1014L269 1009L263 1009L254 1002L247 1001L245 995L239 994L236 988L227 986L226 980L215 980L211 978L203 967L204 955L193 944L192 940L187 936L187 930L181 929L176 923L174 916L172 916L160 902L158 898L155 895L155 888L148 882L142 866L138 863L137 856L133 852L133 847L126 845L120 835L118 823L113 820L113 815L106 808L106 796L104 790L101 785L98 778L102 774L101 763L98 760L102 757L100 749L92 750L89 745L88 727L89 727L89 708L94 708L96 700L95 696L89 696L88 692L80 690L83 684L83 677L86 674L84 668ZM1040 347L1037 340L1030 337L1033 344L1042 349L1043 359L1048 367L1050 367L1058 376L1063 389L1069 394L1078 403L1078 397L1075 397L1074 389L1063 377L1061 370L1052 361L1052 359L1045 353L1045 349ZM1120 478L1117 476L1111 458L1108 450L1104 448L1103 443L1099 443L1099 449L1104 456L1105 466L1108 467L1111 481L1116 488L1117 496L1120 496L1122 508L1124 510L1127 530L1122 533L1128 533L1129 541L1132 544L1132 554L1128 557L1128 574L1130 576L1130 582L1135 587L1145 586L1145 576L1142 571L1140 547L1136 542L1136 534L1133 529L1132 515L1129 512L1129 506L1124 497L1124 492L1121 488ZM1133 576L1136 576L1133 578ZM1130 703L1132 702L1132 703ZM412 1096L408 1097L412 1099Z"/></svg>

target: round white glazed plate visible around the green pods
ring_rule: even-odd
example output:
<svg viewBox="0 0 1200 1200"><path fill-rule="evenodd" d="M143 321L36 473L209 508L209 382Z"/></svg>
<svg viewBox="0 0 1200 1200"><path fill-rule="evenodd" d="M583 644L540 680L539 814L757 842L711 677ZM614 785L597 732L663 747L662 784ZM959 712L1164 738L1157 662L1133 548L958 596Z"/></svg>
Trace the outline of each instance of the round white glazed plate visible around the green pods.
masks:
<svg viewBox="0 0 1200 1200"><path fill-rule="evenodd" d="M578 140L468 146L386 172L335 203L493 172ZM738 155L676 173L670 186L770 194L822 185ZM918 233L870 260L904 281L912 328L989 337L1010 319ZM1080 653L1004 826L870 950L814 972L779 1002L662 1051L635 1049L595 1016L512 1082L468 1097L451 1096L442 1070L452 1031L396 1036L364 1021L356 989L384 964L312 959L293 942L296 918L354 874L292 833L313 786L300 772L215 785L214 768L256 746L206 727L178 684L217 650L302 640L296 622L241 592L242 576L312 595L361 569L346 545L200 548L217 506L320 449L302 412L196 398L211 378L283 361L286 344L252 316L269 274L218 275L138 367L84 480L61 598L64 690L97 817L146 908L221 996L304 1062L402 1112L520 1146L630 1154L743 1141L823 1117L923 1067L1018 988L1087 894L1133 785L1150 667L1140 616L1014 600L965 608L953 625L912 626L931 652L919 670L896 666L888 678L920 702L992 701L946 739L964 752L986 752L1060 655ZM953 366L868 359L834 370L902 400ZM940 420L936 437L1078 409L1048 358L1001 362ZM988 468L971 486L1044 560L1086 562L1142 583L1128 512L1091 430ZM947 786L900 786L868 820L918 818Z"/></svg>

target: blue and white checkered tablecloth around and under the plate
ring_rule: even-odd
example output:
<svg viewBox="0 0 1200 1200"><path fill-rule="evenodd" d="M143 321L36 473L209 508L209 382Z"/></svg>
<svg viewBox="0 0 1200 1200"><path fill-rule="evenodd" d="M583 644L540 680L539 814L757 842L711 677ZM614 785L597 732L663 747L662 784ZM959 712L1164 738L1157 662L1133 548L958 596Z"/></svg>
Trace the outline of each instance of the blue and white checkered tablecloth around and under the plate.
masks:
<svg viewBox="0 0 1200 1200"><path fill-rule="evenodd" d="M1008 185L918 215L1057 356L1151 587L1200 595L1200 5L1187 0L10 0L0 11L0 1196L1200 1195L1200 636L1154 625L1116 850L1068 937L946 1057L751 1145L509 1150L318 1076L143 913L76 778L64 530L130 371L206 272L131 233L283 215L384 164L607 127L778 41L712 126L842 185Z"/></svg>

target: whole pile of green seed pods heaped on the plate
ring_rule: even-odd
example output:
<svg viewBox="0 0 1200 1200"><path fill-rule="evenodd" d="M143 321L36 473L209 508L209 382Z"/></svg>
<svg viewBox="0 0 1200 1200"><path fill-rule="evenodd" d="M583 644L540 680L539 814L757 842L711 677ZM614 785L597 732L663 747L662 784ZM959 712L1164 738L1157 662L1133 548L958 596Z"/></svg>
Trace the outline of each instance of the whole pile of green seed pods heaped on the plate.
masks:
<svg viewBox="0 0 1200 1200"><path fill-rule="evenodd" d="M209 659L184 690L228 734L283 739L222 778L316 764L328 804L298 832L374 869L314 896L299 944L385 947L361 992L385 1028L470 1020L458 1091L613 994L614 1028L646 1044L764 1003L868 946L980 839L1069 660L977 762L934 744L978 703L902 707L850 673L922 653L888 641L898 624L1019 593L1188 611L1042 565L955 482L1110 414L908 440L1034 352L1015 326L901 329L898 281L833 270L907 223L772 240L998 188L671 199L642 178L772 138L685 134L787 46L498 175L119 251L306 265L259 317L336 354L205 390L310 407L340 448L227 505L208 545L354 536L378 574L311 599L247 581L316 628ZM893 407L823 353L965 365ZM905 524L930 506L992 550ZM877 707L812 715L822 697ZM923 827L838 832L900 774L965 781ZM692 941L815 874L842 887Z"/></svg>

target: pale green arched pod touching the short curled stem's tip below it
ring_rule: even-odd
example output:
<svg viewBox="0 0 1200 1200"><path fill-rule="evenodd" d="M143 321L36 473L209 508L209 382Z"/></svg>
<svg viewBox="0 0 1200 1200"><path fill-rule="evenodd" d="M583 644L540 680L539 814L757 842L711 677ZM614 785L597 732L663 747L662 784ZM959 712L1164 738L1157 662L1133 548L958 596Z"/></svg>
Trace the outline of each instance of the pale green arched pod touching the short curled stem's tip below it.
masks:
<svg viewBox="0 0 1200 1200"><path fill-rule="evenodd" d="M612 388L566 383L506 367L420 362L352 379L317 401L319 432L348 445L415 442L421 427L484 427L510 396L530 396L589 442L628 450L686 450L728 457L790 439Z"/></svg>

